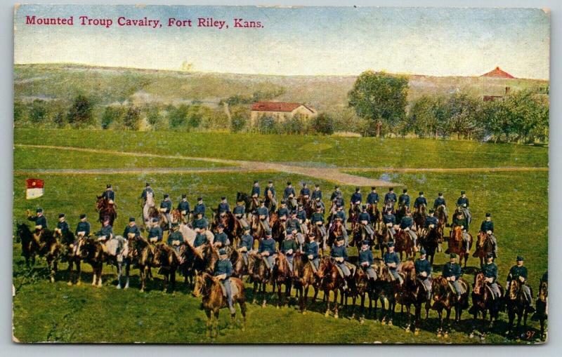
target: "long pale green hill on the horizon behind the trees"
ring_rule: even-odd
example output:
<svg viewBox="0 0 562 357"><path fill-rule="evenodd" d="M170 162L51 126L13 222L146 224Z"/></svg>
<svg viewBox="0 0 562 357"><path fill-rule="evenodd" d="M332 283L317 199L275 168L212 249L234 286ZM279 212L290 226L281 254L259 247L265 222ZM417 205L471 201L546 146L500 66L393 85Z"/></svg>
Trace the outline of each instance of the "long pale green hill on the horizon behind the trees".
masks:
<svg viewBox="0 0 562 357"><path fill-rule="evenodd" d="M490 77L408 75L409 100L429 93L502 95L505 88L521 90L545 87L548 81L499 79ZM98 105L115 102L136 104L159 102L178 104L202 102L216 107L233 95L279 92L275 100L307 103L319 111L332 112L346 107L347 93L355 76L270 76L174 72L121 67L93 67L72 64L15 65L15 100L69 100L84 93ZM284 89L284 90L282 90Z"/></svg>

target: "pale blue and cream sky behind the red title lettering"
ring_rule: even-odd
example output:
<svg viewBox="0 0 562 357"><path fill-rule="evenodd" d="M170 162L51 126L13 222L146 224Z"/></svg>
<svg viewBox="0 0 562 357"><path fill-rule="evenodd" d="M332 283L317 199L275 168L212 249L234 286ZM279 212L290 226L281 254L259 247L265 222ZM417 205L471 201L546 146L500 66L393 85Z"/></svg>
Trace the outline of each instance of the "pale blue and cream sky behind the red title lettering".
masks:
<svg viewBox="0 0 562 357"><path fill-rule="evenodd" d="M74 16L74 26L25 25L26 15ZM114 25L82 27L80 15ZM117 18L162 27L119 27ZM211 17L228 29L167 27L168 18ZM235 29L234 18L263 29ZM211 6L32 6L15 13L14 61L202 72L354 75L365 69L472 76L496 66L520 78L549 78L549 15L499 8L265 8Z"/></svg>

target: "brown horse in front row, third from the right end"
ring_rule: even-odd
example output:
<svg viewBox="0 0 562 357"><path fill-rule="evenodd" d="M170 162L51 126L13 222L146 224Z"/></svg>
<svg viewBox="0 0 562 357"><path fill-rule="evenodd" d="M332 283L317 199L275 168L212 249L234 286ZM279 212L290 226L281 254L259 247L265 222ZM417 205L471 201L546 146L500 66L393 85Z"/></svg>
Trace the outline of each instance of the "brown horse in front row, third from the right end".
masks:
<svg viewBox="0 0 562 357"><path fill-rule="evenodd" d="M482 314L482 320L486 321L486 315L490 313L490 323L488 324L488 330L494 328L494 323L497 322L499 318L499 311L502 308L502 295L503 288L499 283L497 283L500 291L499 297L494 297L492 289L486 283L485 276L482 272L474 276L474 283L472 285L472 307L469 309L469 313L472 314L472 332L470 337L474 337L474 332L476 332L476 321L478 321L478 314ZM485 339L485 332L482 333L481 339Z"/></svg>

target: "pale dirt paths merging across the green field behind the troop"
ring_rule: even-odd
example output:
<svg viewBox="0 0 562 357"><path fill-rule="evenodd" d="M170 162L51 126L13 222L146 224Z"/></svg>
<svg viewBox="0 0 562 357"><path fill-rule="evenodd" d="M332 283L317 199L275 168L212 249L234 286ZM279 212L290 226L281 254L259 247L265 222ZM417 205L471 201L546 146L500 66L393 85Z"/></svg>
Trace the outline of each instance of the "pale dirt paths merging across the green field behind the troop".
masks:
<svg viewBox="0 0 562 357"><path fill-rule="evenodd" d="M499 168L311 168L299 166L296 164L272 163L263 161L243 161L231 159L217 159L197 156L178 156L178 155L162 155L148 154L139 152L112 151L105 149L88 149L81 147L58 147L51 145L29 145L15 144L15 147L32 147L37 149L58 149L72 150L81 152L90 152L96 154L111 154L121 156L145 156L156 157L162 159L182 159L192 161L207 161L214 163L225 163L231 167L221 168L99 168L99 169L37 169L37 170L14 170L19 175L45 174L45 175L109 175L109 174L140 174L140 173L235 173L235 172L266 172L278 171L282 173L294 173L297 175L305 175L316 177L322 180L337 182L351 186L377 186L389 187L400 186L400 184L375 180L369 177L351 175L343 171L386 171L398 173L460 173L460 172L503 172L503 171L548 171L549 168L532 168L532 167L499 167Z"/></svg>

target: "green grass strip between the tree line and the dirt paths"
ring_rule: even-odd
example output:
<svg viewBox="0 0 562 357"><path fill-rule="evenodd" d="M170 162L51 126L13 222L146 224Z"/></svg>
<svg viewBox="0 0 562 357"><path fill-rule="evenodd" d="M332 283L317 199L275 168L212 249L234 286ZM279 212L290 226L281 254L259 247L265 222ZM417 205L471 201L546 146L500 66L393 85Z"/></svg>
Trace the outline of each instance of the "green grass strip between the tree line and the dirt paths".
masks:
<svg viewBox="0 0 562 357"><path fill-rule="evenodd" d="M395 168L548 166L547 147L472 141L376 139L236 133L177 133L96 130L14 130L16 144L93 147L153 154L255 161L298 161L308 165Z"/></svg>

